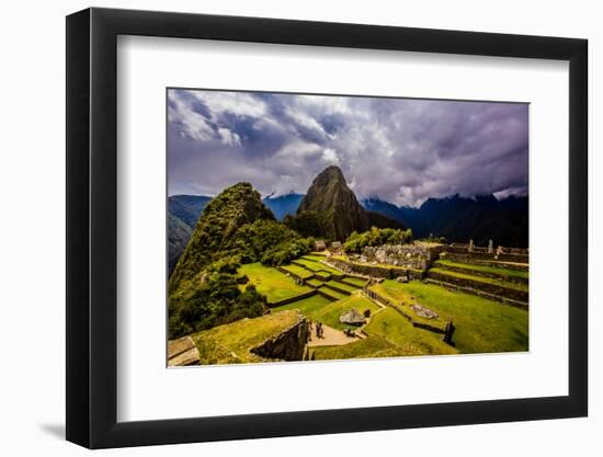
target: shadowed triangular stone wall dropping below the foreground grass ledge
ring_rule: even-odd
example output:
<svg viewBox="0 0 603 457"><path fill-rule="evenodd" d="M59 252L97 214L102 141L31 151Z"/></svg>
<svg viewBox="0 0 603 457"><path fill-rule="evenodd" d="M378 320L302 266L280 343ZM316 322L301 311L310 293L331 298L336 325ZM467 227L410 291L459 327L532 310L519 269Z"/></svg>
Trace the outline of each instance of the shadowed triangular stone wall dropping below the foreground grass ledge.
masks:
<svg viewBox="0 0 603 457"><path fill-rule="evenodd" d="M308 338L308 323L306 322L306 318L302 318L276 336L251 349L251 352L263 358L287 362L303 361L306 354Z"/></svg>

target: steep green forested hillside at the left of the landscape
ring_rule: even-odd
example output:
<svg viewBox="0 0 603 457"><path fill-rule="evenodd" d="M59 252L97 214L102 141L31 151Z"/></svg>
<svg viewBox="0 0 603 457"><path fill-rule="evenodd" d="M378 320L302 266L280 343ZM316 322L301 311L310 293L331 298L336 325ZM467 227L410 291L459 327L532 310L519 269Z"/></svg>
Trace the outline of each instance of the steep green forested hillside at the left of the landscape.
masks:
<svg viewBox="0 0 603 457"><path fill-rule="evenodd" d="M261 315L265 299L253 286L240 289L240 264L281 264L309 250L310 240L276 221L251 184L226 188L203 210L170 277L170 339Z"/></svg>

